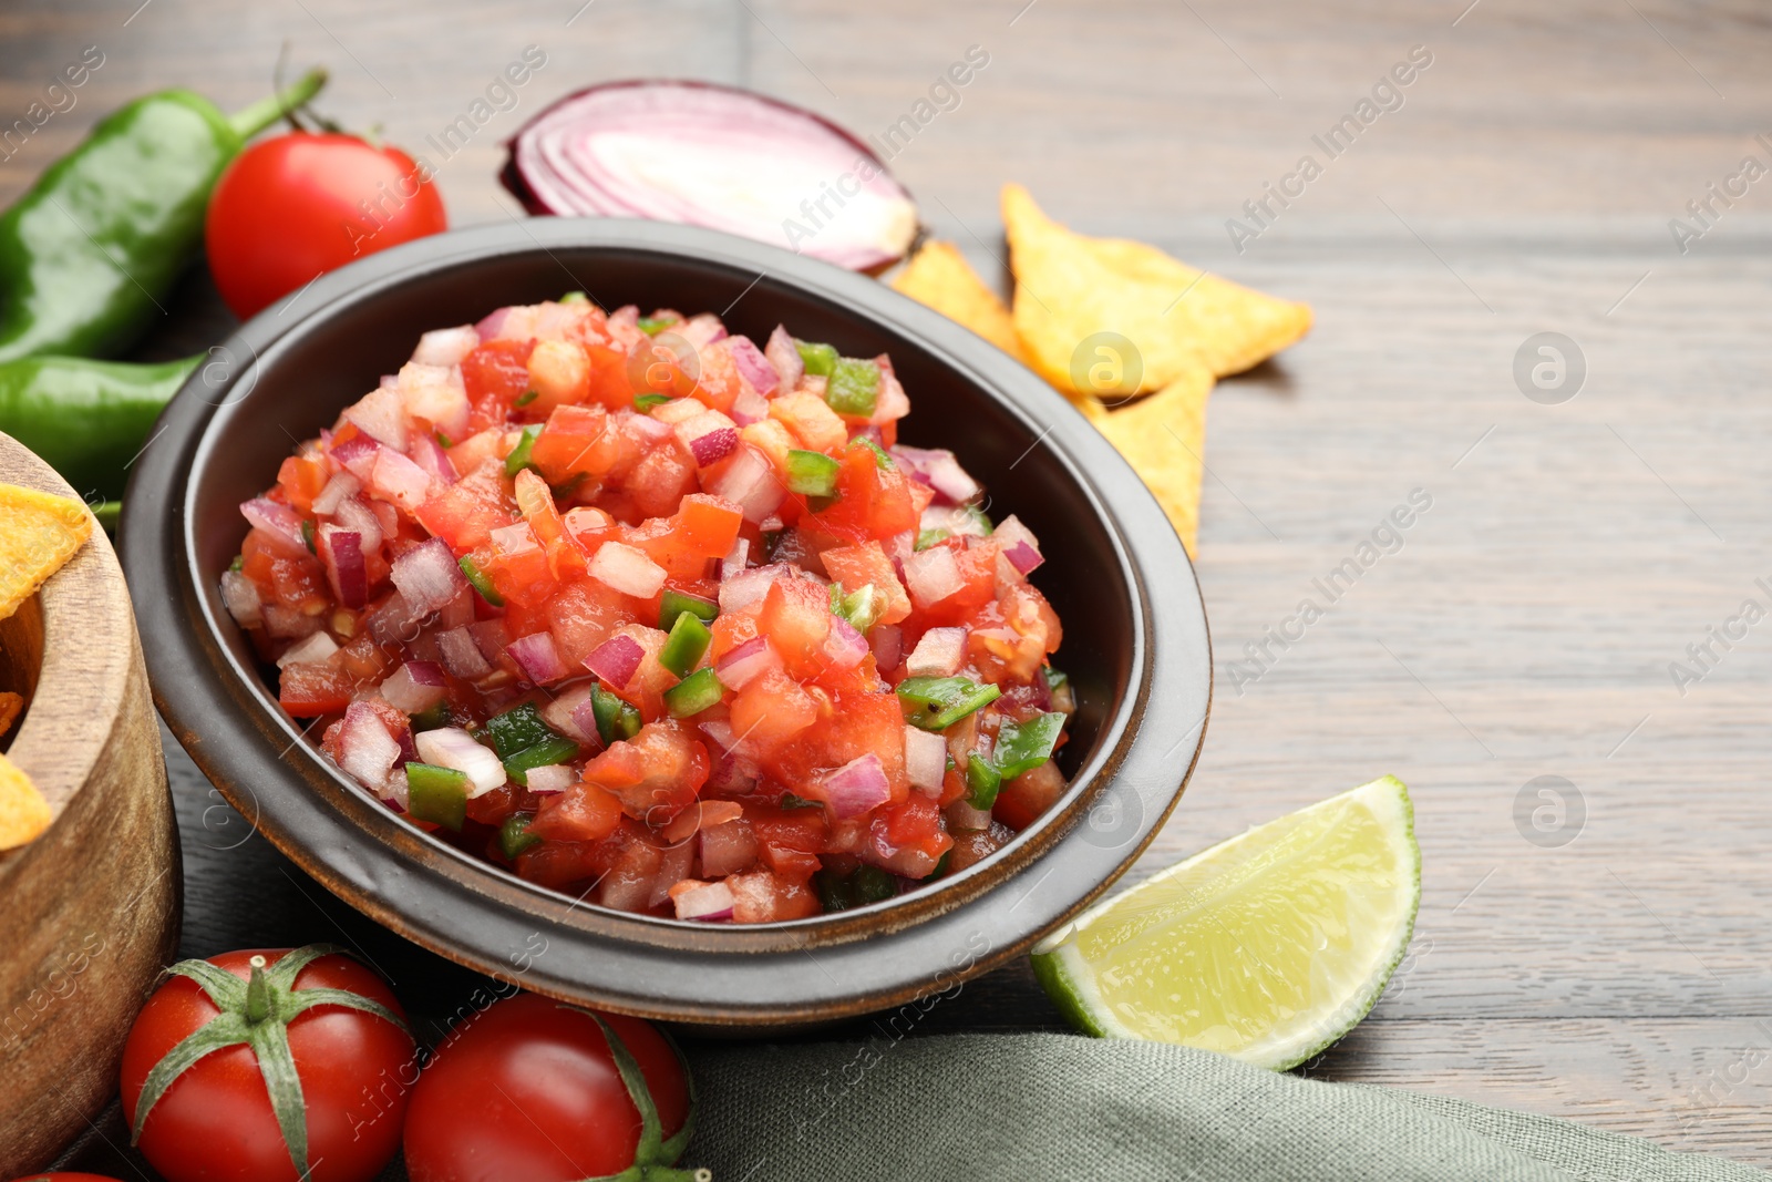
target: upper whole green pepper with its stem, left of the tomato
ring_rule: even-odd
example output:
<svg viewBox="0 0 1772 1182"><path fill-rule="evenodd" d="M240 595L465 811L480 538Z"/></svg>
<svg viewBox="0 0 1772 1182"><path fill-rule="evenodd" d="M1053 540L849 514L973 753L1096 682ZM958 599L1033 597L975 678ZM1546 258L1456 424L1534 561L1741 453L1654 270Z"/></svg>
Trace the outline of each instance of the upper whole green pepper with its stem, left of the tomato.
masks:
<svg viewBox="0 0 1772 1182"><path fill-rule="evenodd" d="M324 82L312 71L232 117L163 90L101 119L0 216L0 362L128 349L202 246L222 170Z"/></svg>

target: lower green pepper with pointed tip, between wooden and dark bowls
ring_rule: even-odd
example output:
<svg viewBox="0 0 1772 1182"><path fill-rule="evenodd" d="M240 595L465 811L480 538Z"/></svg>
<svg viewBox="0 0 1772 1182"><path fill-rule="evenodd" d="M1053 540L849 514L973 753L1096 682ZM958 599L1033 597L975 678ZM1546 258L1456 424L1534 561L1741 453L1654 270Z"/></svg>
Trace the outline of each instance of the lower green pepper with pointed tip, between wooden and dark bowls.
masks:
<svg viewBox="0 0 1772 1182"><path fill-rule="evenodd" d="M0 291L5 291L4 280ZM159 411L204 360L136 365L43 356L0 362L0 431L62 473L76 493L115 500Z"/></svg>

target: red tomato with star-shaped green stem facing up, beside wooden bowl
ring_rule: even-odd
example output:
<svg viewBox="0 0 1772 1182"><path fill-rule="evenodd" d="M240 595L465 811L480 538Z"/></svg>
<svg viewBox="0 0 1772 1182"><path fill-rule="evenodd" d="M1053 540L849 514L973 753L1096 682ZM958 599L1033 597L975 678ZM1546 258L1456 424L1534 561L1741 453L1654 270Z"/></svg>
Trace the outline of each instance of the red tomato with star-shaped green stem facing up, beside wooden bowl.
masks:
<svg viewBox="0 0 1772 1182"><path fill-rule="evenodd" d="M298 969L292 978L291 968ZM379 976L326 946L227 952L170 971L136 1015L122 1053L124 1118L159 1173L172 1182L369 1182L388 1164L400 1143L416 1056L400 1003ZM301 994L312 989L340 992L303 1008ZM264 1063L245 1044L246 1031L275 1044L266 1023L276 1019L287 1021L285 1060L299 1086L284 1116L307 1129L310 1173L296 1168ZM138 1127L149 1072L197 1031L220 1046L151 1099Z"/></svg>

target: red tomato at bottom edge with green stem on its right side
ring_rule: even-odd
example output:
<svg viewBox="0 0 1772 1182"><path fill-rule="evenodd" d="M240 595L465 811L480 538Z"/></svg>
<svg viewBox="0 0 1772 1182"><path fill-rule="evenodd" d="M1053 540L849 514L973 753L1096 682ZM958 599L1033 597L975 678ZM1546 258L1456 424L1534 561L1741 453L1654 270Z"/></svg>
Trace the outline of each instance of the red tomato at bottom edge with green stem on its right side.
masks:
<svg viewBox="0 0 1772 1182"><path fill-rule="evenodd" d="M617 1175L641 1148L641 1115L604 1030L640 1065L657 1111L647 1178L688 1141L693 1097L677 1047L636 1017L592 1014L535 994L498 1001L425 1065L406 1116L413 1182L572 1182Z"/></svg>

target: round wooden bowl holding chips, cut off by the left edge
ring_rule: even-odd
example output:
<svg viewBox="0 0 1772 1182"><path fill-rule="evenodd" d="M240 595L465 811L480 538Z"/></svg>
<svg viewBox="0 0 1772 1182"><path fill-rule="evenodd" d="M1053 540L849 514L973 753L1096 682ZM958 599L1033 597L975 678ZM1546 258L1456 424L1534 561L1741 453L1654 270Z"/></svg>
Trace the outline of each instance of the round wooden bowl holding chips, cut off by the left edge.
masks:
<svg viewBox="0 0 1772 1182"><path fill-rule="evenodd" d="M0 482L76 496L0 434ZM159 727L103 530L0 622L27 696L7 757L55 820L0 852L0 1178L41 1168L117 1092L129 1023L177 948L183 874Z"/></svg>

